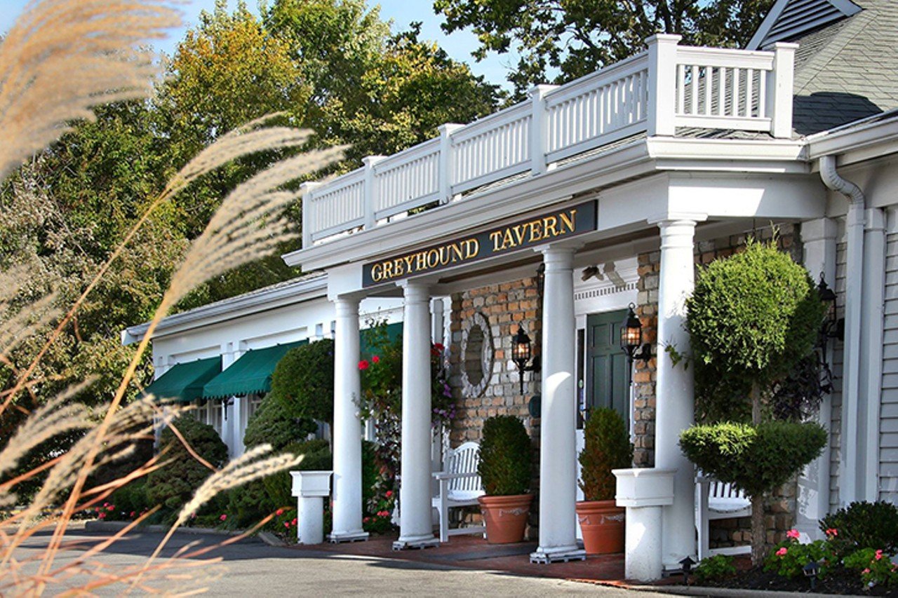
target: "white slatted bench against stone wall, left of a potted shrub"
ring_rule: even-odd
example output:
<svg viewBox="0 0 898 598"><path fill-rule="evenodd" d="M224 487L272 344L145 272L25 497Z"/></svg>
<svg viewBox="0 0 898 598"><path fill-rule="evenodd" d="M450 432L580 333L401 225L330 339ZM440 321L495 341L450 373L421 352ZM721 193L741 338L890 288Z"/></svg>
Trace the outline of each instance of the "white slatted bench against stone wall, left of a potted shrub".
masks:
<svg viewBox="0 0 898 598"><path fill-rule="evenodd" d="M449 509L476 506L477 497L484 494L483 483L477 474L479 462L480 444L464 443L446 451L445 471L434 473L439 483L439 494L433 498L433 506L439 513L441 542L449 541L449 536L486 532L482 525L449 529Z"/></svg>

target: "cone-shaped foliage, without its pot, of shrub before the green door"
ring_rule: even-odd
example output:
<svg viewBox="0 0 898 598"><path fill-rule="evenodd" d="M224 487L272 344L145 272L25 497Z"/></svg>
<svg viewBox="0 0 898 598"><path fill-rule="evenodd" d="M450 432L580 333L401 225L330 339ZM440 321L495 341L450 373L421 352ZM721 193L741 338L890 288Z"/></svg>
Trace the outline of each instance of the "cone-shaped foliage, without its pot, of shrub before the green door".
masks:
<svg viewBox="0 0 898 598"><path fill-rule="evenodd" d="M617 486L612 470L629 467L633 445L627 424L614 409L601 407L589 414L580 451L580 489L585 500L611 500Z"/></svg>

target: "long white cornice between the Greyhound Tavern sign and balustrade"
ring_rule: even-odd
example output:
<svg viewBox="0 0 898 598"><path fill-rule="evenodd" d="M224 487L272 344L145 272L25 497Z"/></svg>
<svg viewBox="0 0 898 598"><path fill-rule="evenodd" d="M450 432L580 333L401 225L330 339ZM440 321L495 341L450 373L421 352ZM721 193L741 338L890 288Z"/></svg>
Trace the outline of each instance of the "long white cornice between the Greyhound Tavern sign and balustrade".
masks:
<svg viewBox="0 0 898 598"><path fill-rule="evenodd" d="M287 253L282 258L288 266L302 266L306 270L374 259L558 204L576 194L644 176L654 170L648 159L646 140L640 139L609 154L566 164L532 179L515 181L371 231Z"/></svg>

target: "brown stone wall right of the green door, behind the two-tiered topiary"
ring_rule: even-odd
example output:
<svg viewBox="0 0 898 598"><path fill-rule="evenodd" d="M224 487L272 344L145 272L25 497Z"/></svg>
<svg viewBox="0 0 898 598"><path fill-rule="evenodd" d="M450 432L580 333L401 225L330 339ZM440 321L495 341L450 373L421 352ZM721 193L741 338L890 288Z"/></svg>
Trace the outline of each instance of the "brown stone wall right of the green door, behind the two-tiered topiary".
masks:
<svg viewBox="0 0 898 598"><path fill-rule="evenodd" d="M797 263L802 263L802 247L799 241L797 226L780 224L778 242L781 251L788 251ZM695 247L696 266L709 264L714 259L725 258L745 246L745 239L751 231L713 241L700 241ZM758 229L755 237L762 241L772 238L770 226ZM642 321L646 342L651 343L653 351L664 350L657 346L657 304L658 276L661 261L660 251L642 253L638 256L638 298L637 313ZM633 374L634 382L634 451L633 462L636 467L653 467L655 465L655 383L656 360L637 362ZM767 505L767 541L776 543L785 540L786 532L795 521L797 508L796 482L786 484L774 493ZM710 541L712 547L733 545L752 539L751 519L723 519L711 522Z"/></svg>

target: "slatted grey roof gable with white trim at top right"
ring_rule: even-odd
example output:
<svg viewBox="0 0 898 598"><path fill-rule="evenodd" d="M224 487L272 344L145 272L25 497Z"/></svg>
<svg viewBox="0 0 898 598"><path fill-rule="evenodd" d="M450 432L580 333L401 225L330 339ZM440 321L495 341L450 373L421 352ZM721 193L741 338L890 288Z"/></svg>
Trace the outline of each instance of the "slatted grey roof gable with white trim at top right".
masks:
<svg viewBox="0 0 898 598"><path fill-rule="evenodd" d="M759 49L776 41L797 40L860 10L851 0L777 0L747 48Z"/></svg>

